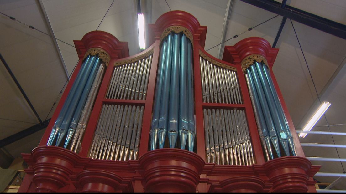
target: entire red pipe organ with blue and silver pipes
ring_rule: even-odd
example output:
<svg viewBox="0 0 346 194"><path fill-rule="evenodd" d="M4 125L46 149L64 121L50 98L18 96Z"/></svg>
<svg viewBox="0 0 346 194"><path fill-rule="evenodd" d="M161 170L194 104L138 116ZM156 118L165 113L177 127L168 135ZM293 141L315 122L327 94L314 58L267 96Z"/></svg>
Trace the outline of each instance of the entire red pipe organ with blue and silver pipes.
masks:
<svg viewBox="0 0 346 194"><path fill-rule="evenodd" d="M183 11L149 25L129 56L103 31L74 41L80 62L20 192L316 192L257 37L204 50L207 27Z"/></svg>

